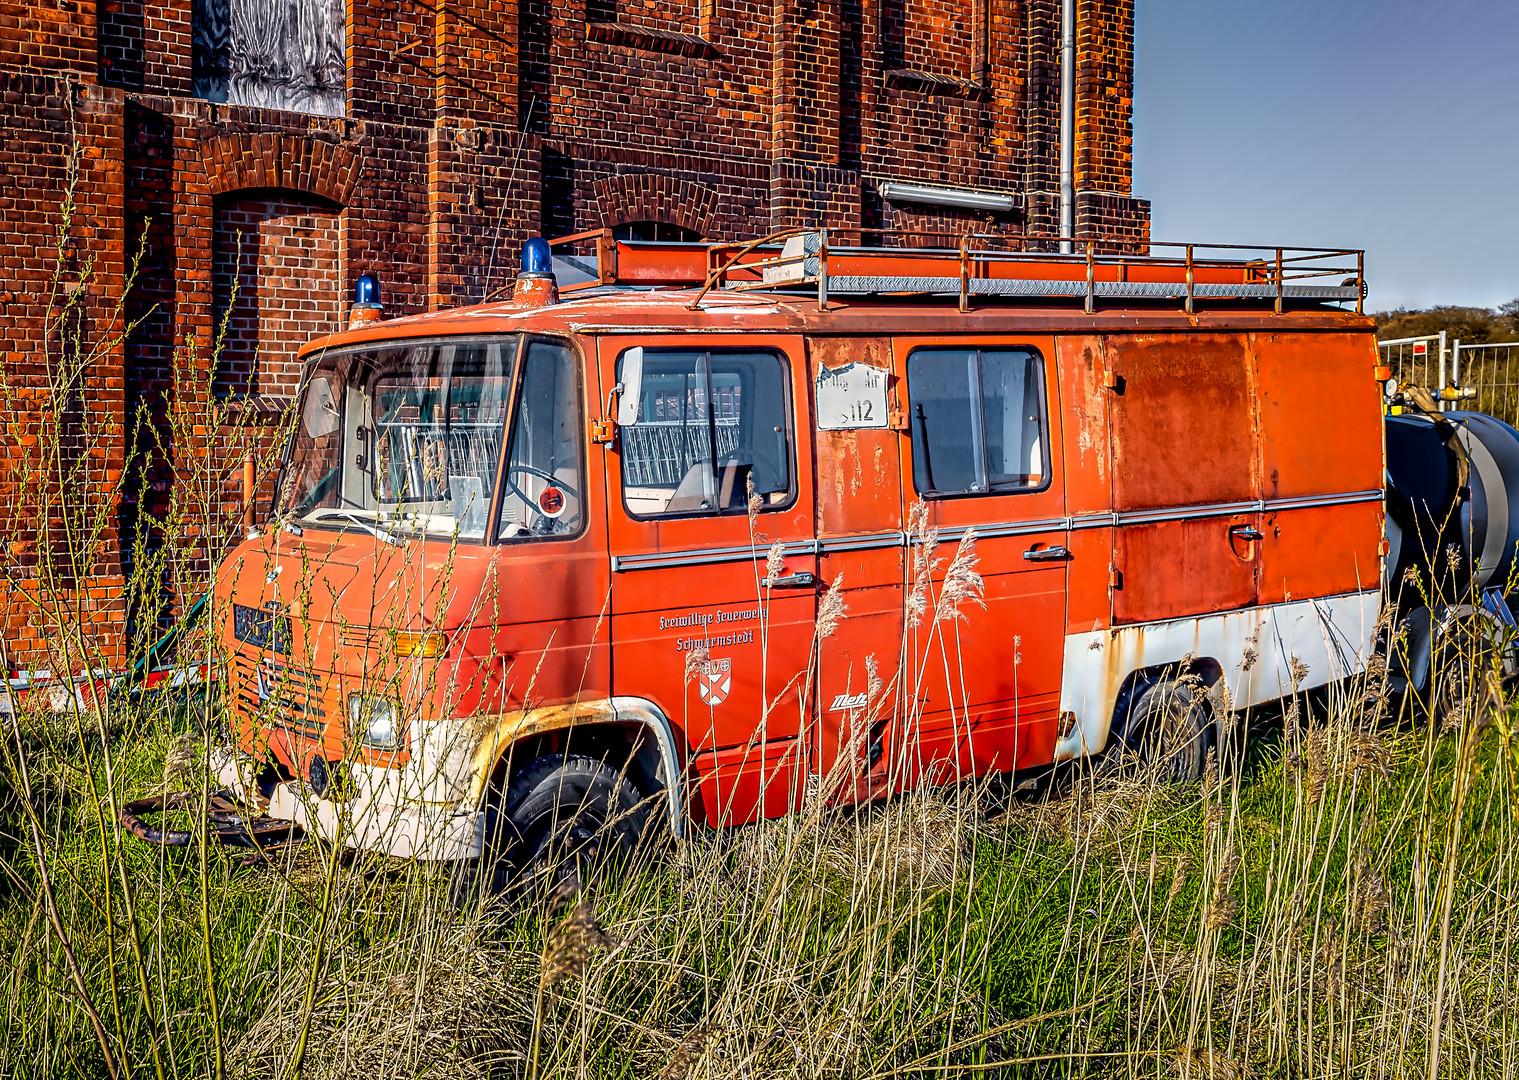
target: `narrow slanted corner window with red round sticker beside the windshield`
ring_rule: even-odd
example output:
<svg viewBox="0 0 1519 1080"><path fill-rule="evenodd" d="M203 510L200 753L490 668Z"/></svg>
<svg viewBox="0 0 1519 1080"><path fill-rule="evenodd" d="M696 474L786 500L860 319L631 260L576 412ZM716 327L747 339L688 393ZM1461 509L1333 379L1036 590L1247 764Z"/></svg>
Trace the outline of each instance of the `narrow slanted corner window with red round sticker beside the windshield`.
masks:
<svg viewBox="0 0 1519 1080"><path fill-rule="evenodd" d="M501 480L501 541L568 536L585 516L580 381L574 354L532 342Z"/></svg>

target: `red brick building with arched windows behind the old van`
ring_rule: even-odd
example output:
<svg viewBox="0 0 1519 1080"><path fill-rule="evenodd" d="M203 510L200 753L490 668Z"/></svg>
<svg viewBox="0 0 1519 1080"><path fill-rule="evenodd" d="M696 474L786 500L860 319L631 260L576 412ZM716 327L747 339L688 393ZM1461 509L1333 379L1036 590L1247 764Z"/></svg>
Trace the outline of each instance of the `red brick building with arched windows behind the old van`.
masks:
<svg viewBox="0 0 1519 1080"><path fill-rule="evenodd" d="M234 281L217 392L267 409L295 389L296 346L337 324L365 272L401 314L477 302L539 232L1057 226L1060 0L261 3L0 0L0 349L12 380L46 372L71 129L65 269L94 257L93 316L146 235L128 301L141 324L90 375L106 434L73 451L118 503L108 553L67 582L102 609L108 638L122 550L172 483L167 462L109 494L131 465L123 433L140 406L159 416L176 349L208 352ZM1075 235L1138 246L1148 204L1130 193L1133 0L1075 8ZM893 201L892 181L996 193L1010 208ZM14 471L32 422L20 398L6 421ZM24 510L0 523L6 574L23 586L46 556L27 550ZM20 662L35 618L14 598L3 609Z"/></svg>

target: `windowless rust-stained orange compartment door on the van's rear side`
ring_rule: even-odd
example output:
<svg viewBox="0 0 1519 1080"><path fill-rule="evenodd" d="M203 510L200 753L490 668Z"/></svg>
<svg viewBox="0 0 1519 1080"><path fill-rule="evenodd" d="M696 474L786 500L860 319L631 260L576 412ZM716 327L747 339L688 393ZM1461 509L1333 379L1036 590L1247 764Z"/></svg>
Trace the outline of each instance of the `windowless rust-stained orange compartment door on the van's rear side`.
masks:
<svg viewBox="0 0 1519 1080"><path fill-rule="evenodd" d="M1106 343L1113 623L1256 603L1262 519L1255 363L1243 334Z"/></svg>

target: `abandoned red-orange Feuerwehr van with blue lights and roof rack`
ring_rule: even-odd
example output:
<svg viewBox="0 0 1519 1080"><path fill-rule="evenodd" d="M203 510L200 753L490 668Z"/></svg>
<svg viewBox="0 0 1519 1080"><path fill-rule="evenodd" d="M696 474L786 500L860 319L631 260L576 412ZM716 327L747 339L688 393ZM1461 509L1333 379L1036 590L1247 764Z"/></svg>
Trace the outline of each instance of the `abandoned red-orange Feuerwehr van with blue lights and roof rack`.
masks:
<svg viewBox="0 0 1519 1080"><path fill-rule="evenodd" d="M360 279L219 571L222 781L521 867L1109 743L1197 776L1364 670L1361 254L940 243L532 240L510 301L396 321Z"/></svg>

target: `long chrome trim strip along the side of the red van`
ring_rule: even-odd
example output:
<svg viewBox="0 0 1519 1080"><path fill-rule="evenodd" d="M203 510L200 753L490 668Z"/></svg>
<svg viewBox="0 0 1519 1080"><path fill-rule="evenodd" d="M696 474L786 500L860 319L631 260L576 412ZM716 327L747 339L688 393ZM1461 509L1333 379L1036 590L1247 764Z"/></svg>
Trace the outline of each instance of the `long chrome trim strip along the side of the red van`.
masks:
<svg viewBox="0 0 1519 1080"><path fill-rule="evenodd" d="M1353 506L1356 503L1378 503L1382 500L1379 488L1364 491L1346 491L1334 495L1297 495L1293 498L1267 498L1246 503L1205 503L1185 507L1162 507L1156 510L1127 510L1124 513L1083 513L1074 518L1039 518L1036 521L989 521L981 526L955 526L940 529L939 539L958 542L966 529L974 529L980 539L995 539L1003 536L1027 536L1030 533L1047 533L1054 530L1075 532L1080 529L1116 529L1121 526L1150 526L1164 521L1191 521L1206 518L1227 518L1233 513L1273 513L1277 510L1305 510L1318 506ZM843 551L872 551L890 547L905 547L908 538L905 532L861 533L858 536L826 536L810 541L790 541L781 545L787 556L797 554L840 554ZM614 554L612 573L629 570L659 570L668 567L709 565L714 562L744 562L760 561L769 554L766 547L711 547L690 551L646 551L639 554Z"/></svg>

